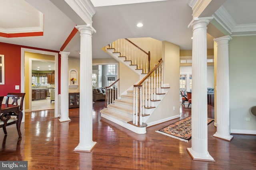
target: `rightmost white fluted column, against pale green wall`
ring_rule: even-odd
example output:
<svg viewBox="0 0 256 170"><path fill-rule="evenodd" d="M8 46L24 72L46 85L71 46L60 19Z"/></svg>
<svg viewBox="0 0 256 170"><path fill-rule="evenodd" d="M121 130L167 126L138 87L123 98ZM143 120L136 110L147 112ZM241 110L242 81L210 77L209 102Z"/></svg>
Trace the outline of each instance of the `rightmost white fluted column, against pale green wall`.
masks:
<svg viewBox="0 0 256 170"><path fill-rule="evenodd" d="M231 141L229 124L229 68L228 68L228 41L229 35L214 39L217 43L217 76L216 76L216 119L217 131L214 137Z"/></svg>

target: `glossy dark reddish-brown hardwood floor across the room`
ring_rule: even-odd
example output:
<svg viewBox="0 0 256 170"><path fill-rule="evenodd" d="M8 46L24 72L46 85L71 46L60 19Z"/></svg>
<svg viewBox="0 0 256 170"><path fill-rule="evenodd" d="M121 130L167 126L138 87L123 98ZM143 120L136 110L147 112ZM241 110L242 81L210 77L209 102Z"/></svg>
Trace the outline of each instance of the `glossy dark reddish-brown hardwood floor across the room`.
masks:
<svg viewBox="0 0 256 170"><path fill-rule="evenodd" d="M181 105L180 105L181 106ZM187 106L187 105L186 105ZM208 125L208 151L215 162L192 160L186 143L156 133L178 119L147 128L138 135L102 117L104 101L93 104L92 152L74 152L79 143L79 109L70 109L70 122L60 123L54 110L26 113L22 123L22 140L16 127L7 127L8 135L0 129L0 160L26 160L29 170L255 170L256 136L233 135L231 142L212 137L214 123ZM193 107L193 106L192 106ZM180 107L181 117L191 109ZM208 106L208 117L214 117Z"/></svg>

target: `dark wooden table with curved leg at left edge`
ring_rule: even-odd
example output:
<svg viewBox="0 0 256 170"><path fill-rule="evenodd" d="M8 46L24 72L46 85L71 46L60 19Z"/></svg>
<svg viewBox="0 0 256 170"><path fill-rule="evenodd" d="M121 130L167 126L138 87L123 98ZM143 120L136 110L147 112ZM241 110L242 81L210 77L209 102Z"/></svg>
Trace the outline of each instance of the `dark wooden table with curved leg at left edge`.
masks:
<svg viewBox="0 0 256 170"><path fill-rule="evenodd" d="M22 110L20 110L20 106L18 105L13 105L13 104L2 104L1 106L1 120L4 119L4 117L8 117L8 115L17 115L17 130L18 130L18 135L19 138L21 139L21 132L20 132L20 124L22 121L23 113Z"/></svg>

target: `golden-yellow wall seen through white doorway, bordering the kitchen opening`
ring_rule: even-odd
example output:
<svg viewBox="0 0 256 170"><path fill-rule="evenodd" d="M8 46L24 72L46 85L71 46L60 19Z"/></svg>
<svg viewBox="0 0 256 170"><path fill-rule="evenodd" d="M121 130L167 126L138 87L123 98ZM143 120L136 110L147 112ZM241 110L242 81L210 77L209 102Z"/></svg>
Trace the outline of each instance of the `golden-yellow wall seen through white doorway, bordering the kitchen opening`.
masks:
<svg viewBox="0 0 256 170"><path fill-rule="evenodd" d="M29 96L32 92L30 92L29 87L29 80L31 77L29 76L29 73L32 70L29 70L29 61L30 59L40 59L40 60L51 60L55 61L55 56L53 55L44 55L44 54L38 54L38 53L30 53L25 51L25 110L29 109Z"/></svg>

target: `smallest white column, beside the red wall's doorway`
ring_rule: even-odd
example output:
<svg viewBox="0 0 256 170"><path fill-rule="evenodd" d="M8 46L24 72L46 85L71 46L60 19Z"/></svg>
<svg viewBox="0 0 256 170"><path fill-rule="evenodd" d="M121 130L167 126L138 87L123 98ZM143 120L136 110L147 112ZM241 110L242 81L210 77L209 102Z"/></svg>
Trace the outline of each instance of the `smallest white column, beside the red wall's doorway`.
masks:
<svg viewBox="0 0 256 170"><path fill-rule="evenodd" d="M60 122L70 121L68 117L68 55L69 53L60 51Z"/></svg>

